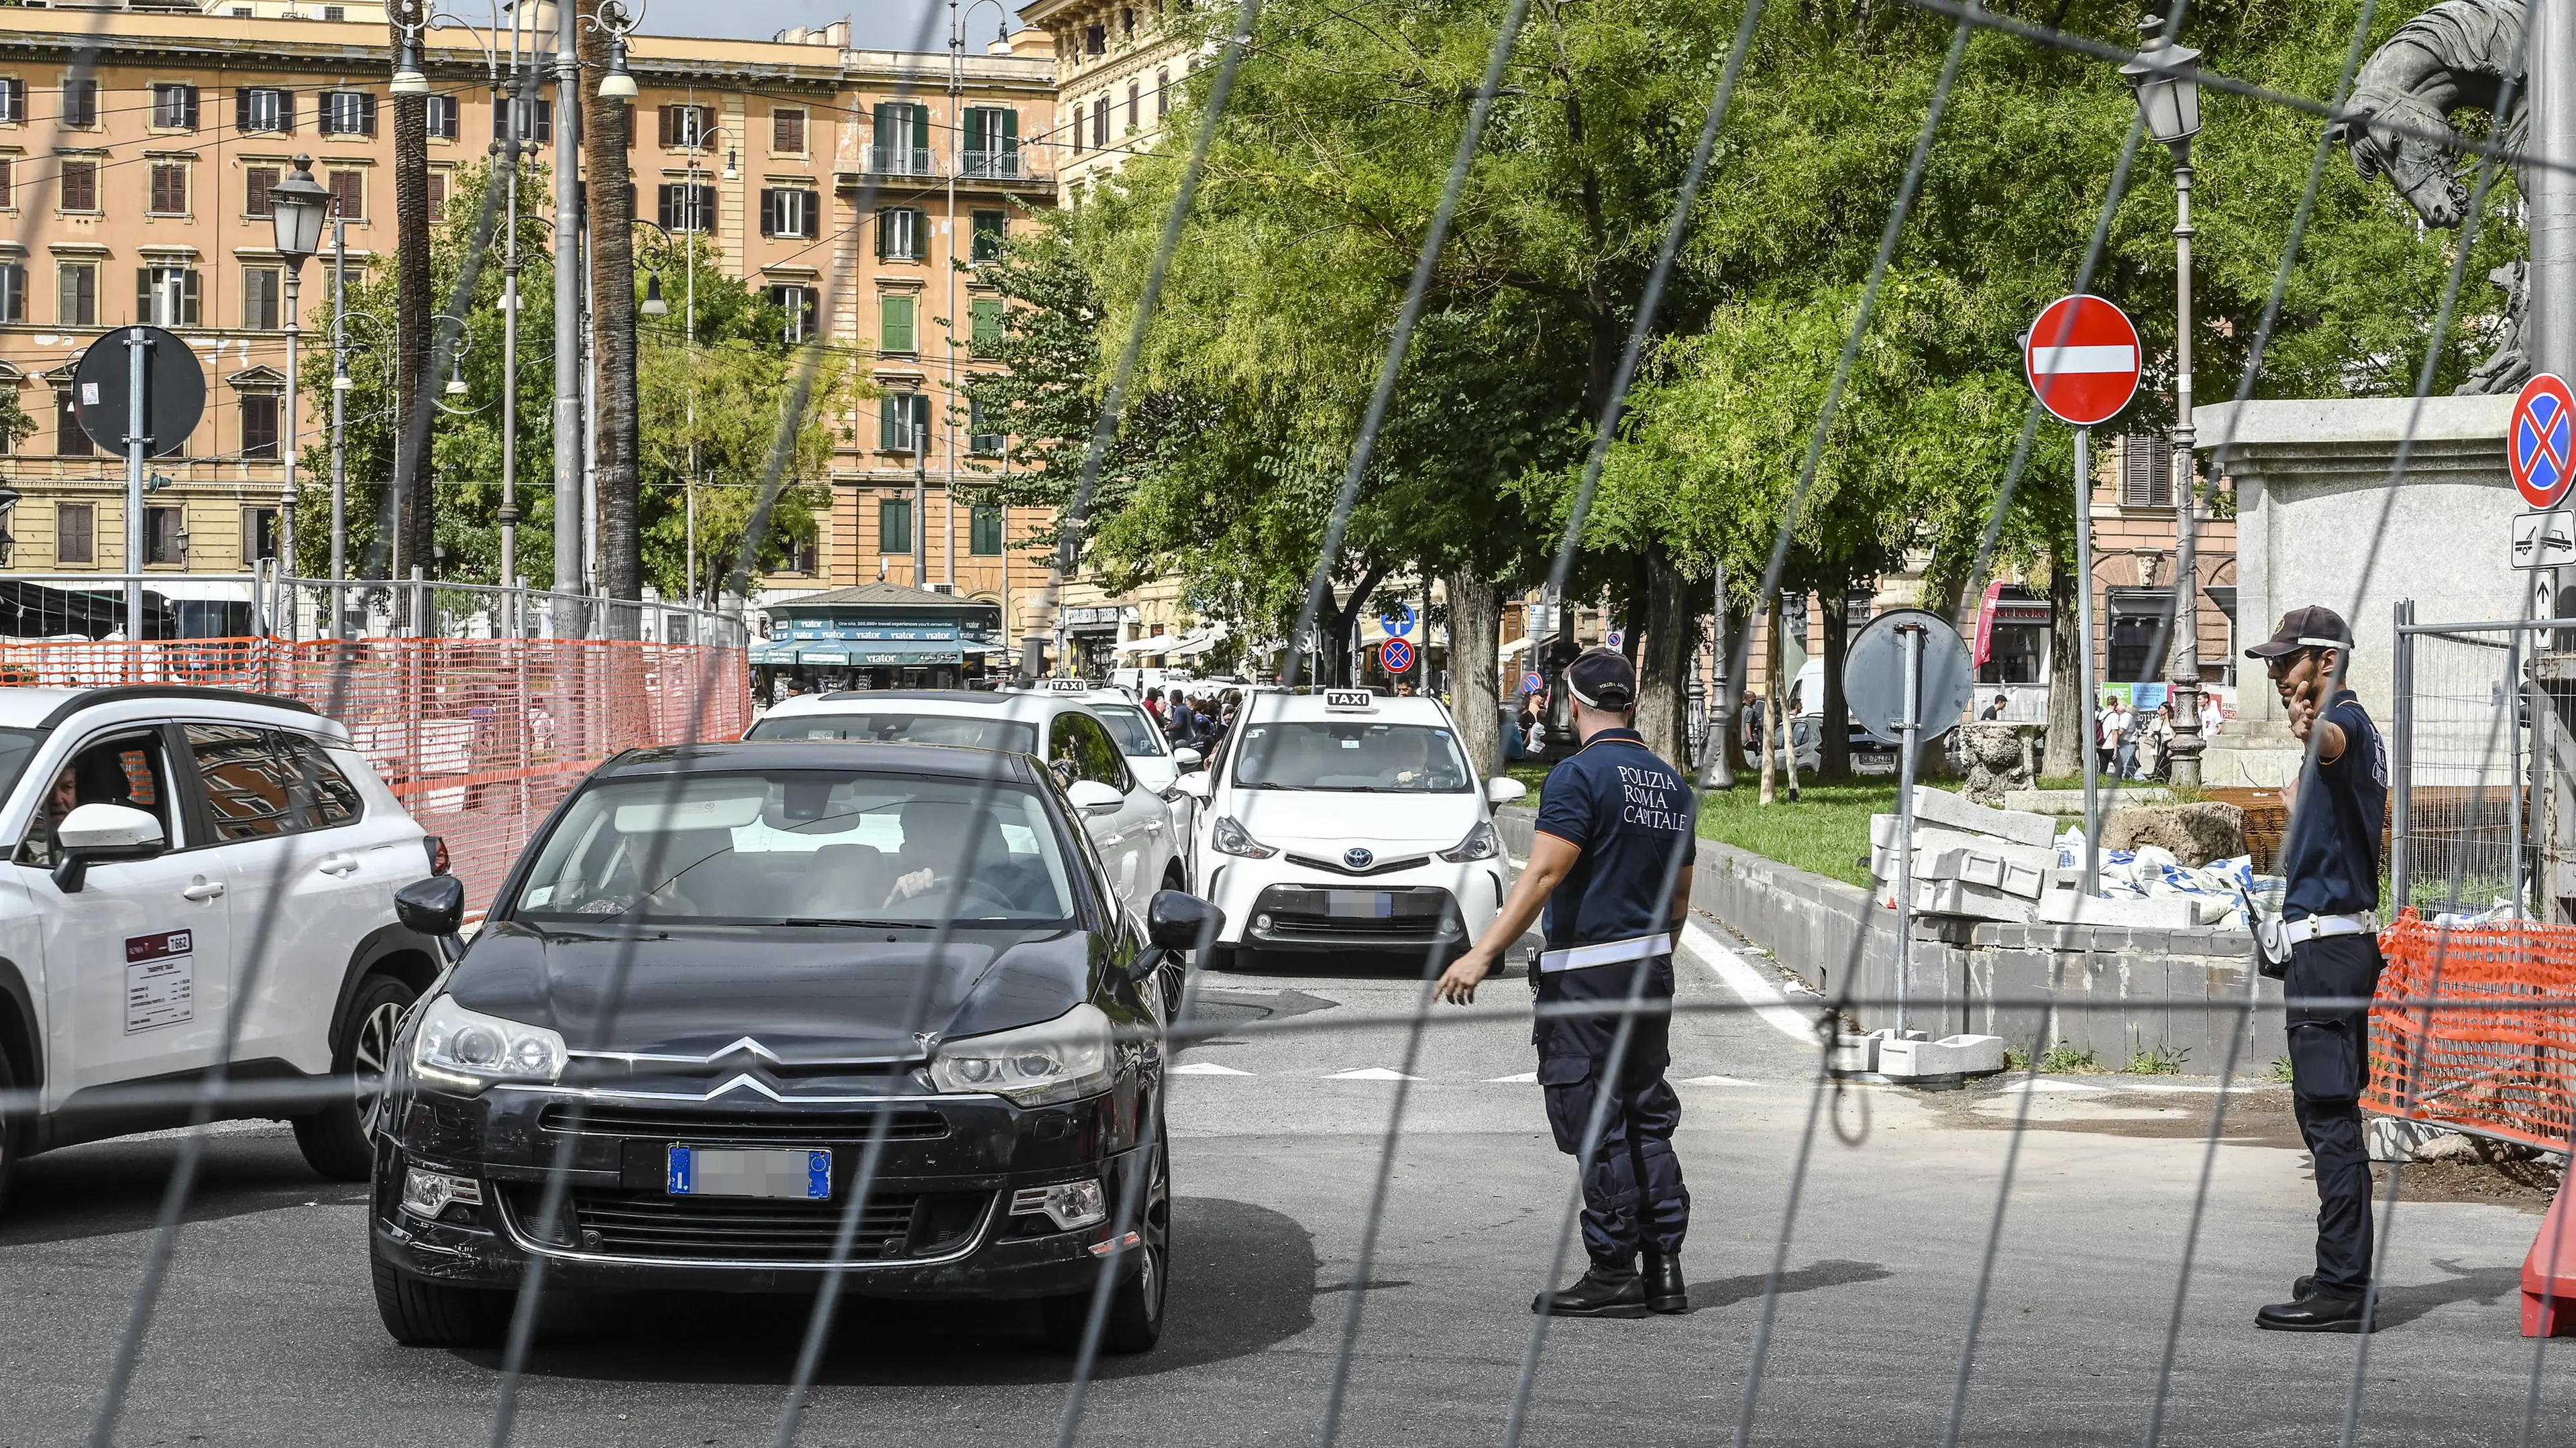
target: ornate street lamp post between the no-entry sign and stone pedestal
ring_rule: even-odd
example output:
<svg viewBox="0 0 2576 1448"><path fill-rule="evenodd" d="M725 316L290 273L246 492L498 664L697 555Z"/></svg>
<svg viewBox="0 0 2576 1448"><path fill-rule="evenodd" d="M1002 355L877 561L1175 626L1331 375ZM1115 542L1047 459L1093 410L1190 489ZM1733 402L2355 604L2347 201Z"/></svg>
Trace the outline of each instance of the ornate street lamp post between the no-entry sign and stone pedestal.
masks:
<svg viewBox="0 0 2576 1448"><path fill-rule="evenodd" d="M2177 46L2164 21L2141 26L2146 49L2120 75L2138 93L2146 131L2174 152L2174 788L2200 788L2200 562L2192 446L2192 137L2200 134L2200 52ZM2089 587L2089 580L2087 580ZM2087 701L2092 709L2092 701Z"/></svg>

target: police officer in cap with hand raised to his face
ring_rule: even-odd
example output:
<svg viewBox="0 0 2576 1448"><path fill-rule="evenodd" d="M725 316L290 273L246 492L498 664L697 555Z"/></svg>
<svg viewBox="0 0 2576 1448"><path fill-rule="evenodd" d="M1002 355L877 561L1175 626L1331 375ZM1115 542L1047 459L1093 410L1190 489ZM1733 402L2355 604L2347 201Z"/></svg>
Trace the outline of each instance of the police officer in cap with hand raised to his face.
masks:
<svg viewBox="0 0 2576 1448"><path fill-rule="evenodd" d="M2380 982L2380 819L2388 806L2388 747L2344 688L2352 629L2331 608L2295 608L2246 649L2272 672L2290 734L2308 747L2290 837L2282 845L2280 938L2264 974L2282 995L2352 1000L2349 1007L2290 1007L2290 1098L2316 1159L2316 1275L2290 1301L2254 1314L2275 1332L2360 1332L2370 1291L2370 1157L2362 1149L2362 1087L2370 1082L2370 995ZM2285 940L2282 940L2285 938ZM2287 946L2287 958L2277 951Z"/></svg>

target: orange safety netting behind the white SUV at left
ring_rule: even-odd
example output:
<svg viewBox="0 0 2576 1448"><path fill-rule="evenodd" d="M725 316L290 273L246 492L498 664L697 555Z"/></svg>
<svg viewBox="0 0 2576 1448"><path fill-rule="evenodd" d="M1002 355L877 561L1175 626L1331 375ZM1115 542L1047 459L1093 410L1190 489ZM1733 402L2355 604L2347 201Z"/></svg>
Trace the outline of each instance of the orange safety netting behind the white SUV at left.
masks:
<svg viewBox="0 0 2576 1448"><path fill-rule="evenodd" d="M479 912L592 765L618 750L739 739L750 657L608 639L0 642L0 683L183 683L304 701L440 840Z"/></svg>

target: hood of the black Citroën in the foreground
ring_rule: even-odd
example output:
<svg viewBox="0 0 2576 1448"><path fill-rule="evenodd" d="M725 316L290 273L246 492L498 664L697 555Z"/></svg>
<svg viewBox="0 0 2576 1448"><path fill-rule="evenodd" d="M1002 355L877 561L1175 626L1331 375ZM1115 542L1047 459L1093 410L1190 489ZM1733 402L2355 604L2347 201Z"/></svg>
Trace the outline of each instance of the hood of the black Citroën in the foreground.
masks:
<svg viewBox="0 0 2576 1448"><path fill-rule="evenodd" d="M1092 997L1084 930L690 930L649 940L489 925L448 992L564 1033L574 1051L716 1054L750 1036L781 1062L914 1059L920 1036L1054 1020ZM631 951L613 1007L618 961ZM603 1033L605 1023L605 1033Z"/></svg>

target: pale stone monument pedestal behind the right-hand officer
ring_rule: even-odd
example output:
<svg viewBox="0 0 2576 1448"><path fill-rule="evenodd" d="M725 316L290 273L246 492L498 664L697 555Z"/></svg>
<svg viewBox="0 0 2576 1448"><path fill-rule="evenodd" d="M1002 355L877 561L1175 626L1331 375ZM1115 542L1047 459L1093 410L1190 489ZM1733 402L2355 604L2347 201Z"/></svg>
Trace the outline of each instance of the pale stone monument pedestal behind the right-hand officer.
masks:
<svg viewBox="0 0 2576 1448"><path fill-rule="evenodd" d="M2512 567L2522 495L2504 469L2512 397L2357 397L2200 407L2202 461L2236 479L2239 719L2200 763L2213 788L2280 788L2298 773L2280 696L2241 657L2280 616L2324 603L2352 626L2347 680L2380 727L2393 716L2396 603L2421 624L2519 618ZM2414 425L2406 474L2393 477ZM2383 526L2385 518L2385 526ZM2372 546L2375 538L2375 546Z"/></svg>

